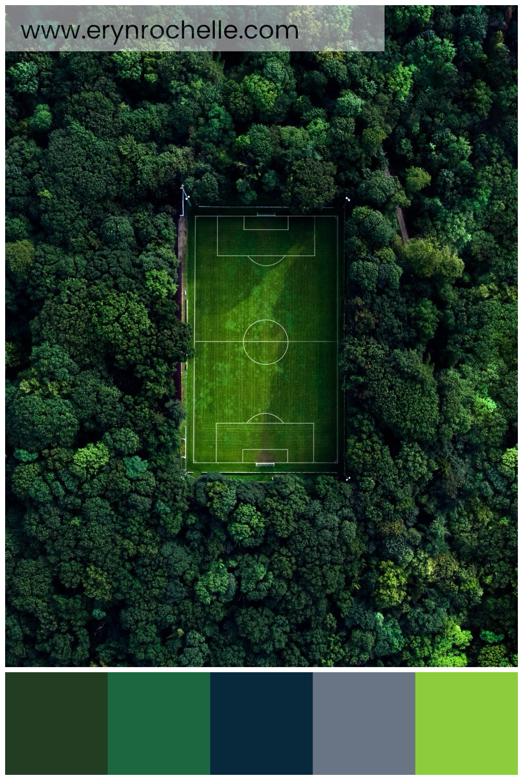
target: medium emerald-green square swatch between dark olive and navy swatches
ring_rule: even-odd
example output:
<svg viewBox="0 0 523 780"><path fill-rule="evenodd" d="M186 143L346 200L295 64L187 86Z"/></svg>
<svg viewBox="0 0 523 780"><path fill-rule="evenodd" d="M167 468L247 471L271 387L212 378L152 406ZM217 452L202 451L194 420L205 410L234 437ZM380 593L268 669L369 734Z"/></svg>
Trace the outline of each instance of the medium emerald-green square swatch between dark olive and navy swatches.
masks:
<svg viewBox="0 0 523 780"><path fill-rule="evenodd" d="M209 672L108 673L108 774L210 773Z"/></svg>

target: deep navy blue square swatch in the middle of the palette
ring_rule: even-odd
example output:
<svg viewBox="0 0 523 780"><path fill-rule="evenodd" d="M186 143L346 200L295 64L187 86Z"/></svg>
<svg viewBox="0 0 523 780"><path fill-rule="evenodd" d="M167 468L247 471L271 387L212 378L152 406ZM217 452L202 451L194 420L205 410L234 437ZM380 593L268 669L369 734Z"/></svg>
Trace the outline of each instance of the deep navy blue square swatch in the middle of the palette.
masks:
<svg viewBox="0 0 523 780"><path fill-rule="evenodd" d="M211 775L312 775L312 672L210 675Z"/></svg>

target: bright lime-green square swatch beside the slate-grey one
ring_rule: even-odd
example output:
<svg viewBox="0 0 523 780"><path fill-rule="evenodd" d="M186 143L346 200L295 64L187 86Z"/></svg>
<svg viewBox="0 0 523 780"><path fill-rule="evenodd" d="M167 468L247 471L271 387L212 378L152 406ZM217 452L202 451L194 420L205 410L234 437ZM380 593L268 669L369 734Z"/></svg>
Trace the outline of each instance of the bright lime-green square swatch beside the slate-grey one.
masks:
<svg viewBox="0 0 523 780"><path fill-rule="evenodd" d="M517 672L416 672L416 775L518 772Z"/></svg>

